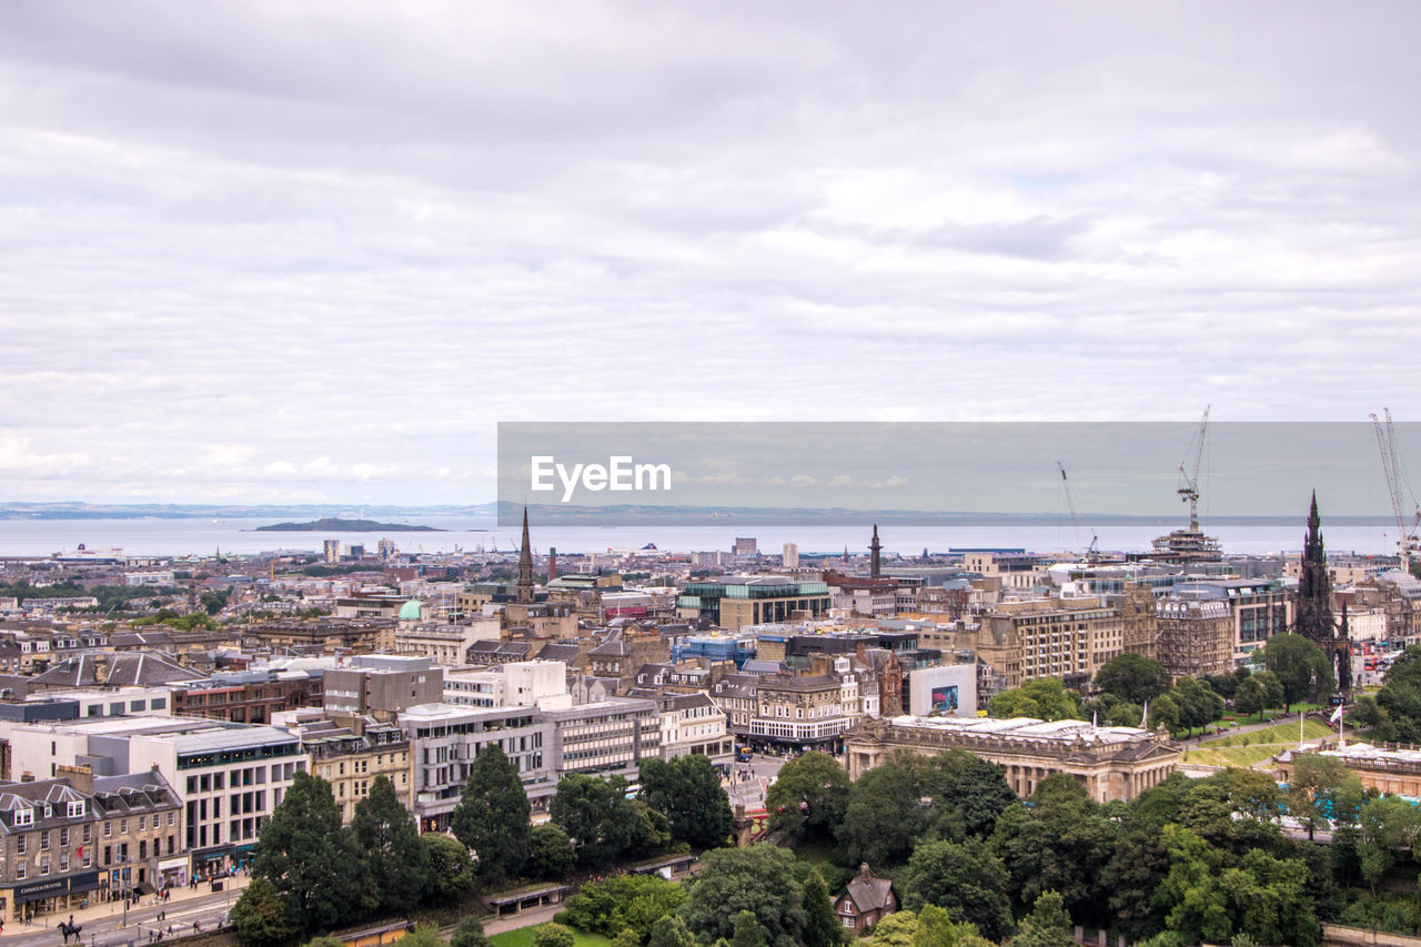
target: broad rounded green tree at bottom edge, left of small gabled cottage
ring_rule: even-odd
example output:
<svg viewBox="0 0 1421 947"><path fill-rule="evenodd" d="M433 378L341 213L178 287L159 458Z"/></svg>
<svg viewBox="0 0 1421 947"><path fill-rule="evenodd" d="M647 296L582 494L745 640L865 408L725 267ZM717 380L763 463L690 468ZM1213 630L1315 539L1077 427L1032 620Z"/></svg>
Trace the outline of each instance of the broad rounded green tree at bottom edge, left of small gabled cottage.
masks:
<svg viewBox="0 0 1421 947"><path fill-rule="evenodd" d="M764 845L715 849L701 856L681 917L696 937L710 943L735 934L735 916L753 911L774 947L790 947L804 930L794 856Z"/></svg>

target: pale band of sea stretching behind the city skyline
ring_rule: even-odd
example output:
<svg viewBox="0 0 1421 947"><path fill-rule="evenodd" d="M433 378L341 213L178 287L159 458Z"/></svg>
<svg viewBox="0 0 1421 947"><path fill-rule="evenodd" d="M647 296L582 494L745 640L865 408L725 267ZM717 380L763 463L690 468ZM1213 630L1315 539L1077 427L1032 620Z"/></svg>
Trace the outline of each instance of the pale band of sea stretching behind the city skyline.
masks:
<svg viewBox="0 0 1421 947"><path fill-rule="evenodd" d="M375 532L375 533L317 533L317 532L254 532L274 519L10 519L0 520L0 556L50 556L72 553L81 546L92 553L121 552L129 556L188 556L256 555L273 550L320 552L325 539L340 539L344 546L364 545L374 552L381 539L391 539L401 552L514 552L519 529L500 526L492 516L419 516L409 522L433 526L446 532ZM1033 553L1080 552L1097 536L1097 547L1106 552L1148 549L1155 536L1162 536L1184 523L1171 519L1134 520L1101 525L1077 535L1066 518L1012 518L1003 522L972 522L962 525L907 522L880 525L884 550L904 556L949 553L975 549L1022 549ZM1395 523L1383 519L1344 522L1329 528L1323 522L1327 550L1361 555L1388 555L1395 550ZM1204 530L1216 536L1226 553L1286 553L1303 545L1304 523L1263 518L1248 520L1232 518L1211 523ZM872 523L863 526L844 523L773 523L736 522L726 526L635 525L588 526L549 523L531 525L531 542L539 555L549 549L561 553L605 553L655 546L668 552L730 550L736 537L755 537L762 553L779 555L784 543L796 543L800 556L814 553L851 553L867 550Z"/></svg>

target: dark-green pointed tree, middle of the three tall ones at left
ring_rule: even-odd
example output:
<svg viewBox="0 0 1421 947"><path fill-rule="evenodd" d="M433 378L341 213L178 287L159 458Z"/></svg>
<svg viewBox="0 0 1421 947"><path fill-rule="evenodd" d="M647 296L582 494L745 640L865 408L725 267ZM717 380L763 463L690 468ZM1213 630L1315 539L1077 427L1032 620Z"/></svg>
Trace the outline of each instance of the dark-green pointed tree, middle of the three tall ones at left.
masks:
<svg viewBox="0 0 1421 947"><path fill-rule="evenodd" d="M369 793L355 803L351 832L365 863L365 904L371 910L392 914L425 897L431 882L429 850L388 776L375 776Z"/></svg>

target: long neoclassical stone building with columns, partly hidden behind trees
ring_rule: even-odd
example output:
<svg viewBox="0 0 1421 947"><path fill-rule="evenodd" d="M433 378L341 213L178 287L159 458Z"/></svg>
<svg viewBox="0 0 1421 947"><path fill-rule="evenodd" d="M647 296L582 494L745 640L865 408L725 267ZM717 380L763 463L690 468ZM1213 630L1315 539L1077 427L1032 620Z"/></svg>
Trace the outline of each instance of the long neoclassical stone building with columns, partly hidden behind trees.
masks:
<svg viewBox="0 0 1421 947"><path fill-rule="evenodd" d="M865 719L844 734L850 779L878 766L898 748L924 756L965 749L1002 766L1006 783L1019 796L1032 795L1046 776L1064 772L1097 802L1134 799L1164 782L1179 761L1179 745L1167 734L1137 727L1027 717L897 717Z"/></svg>

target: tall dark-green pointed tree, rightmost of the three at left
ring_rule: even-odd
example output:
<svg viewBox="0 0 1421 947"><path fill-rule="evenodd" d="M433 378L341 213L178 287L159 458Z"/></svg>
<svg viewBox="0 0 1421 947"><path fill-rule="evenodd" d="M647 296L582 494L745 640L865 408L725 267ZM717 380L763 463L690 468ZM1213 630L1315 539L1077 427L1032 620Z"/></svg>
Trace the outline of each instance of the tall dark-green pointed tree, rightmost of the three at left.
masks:
<svg viewBox="0 0 1421 947"><path fill-rule="evenodd" d="M473 849L479 876L502 882L517 877L527 862L531 812L517 769L497 742L487 742L469 766L449 828Z"/></svg>

